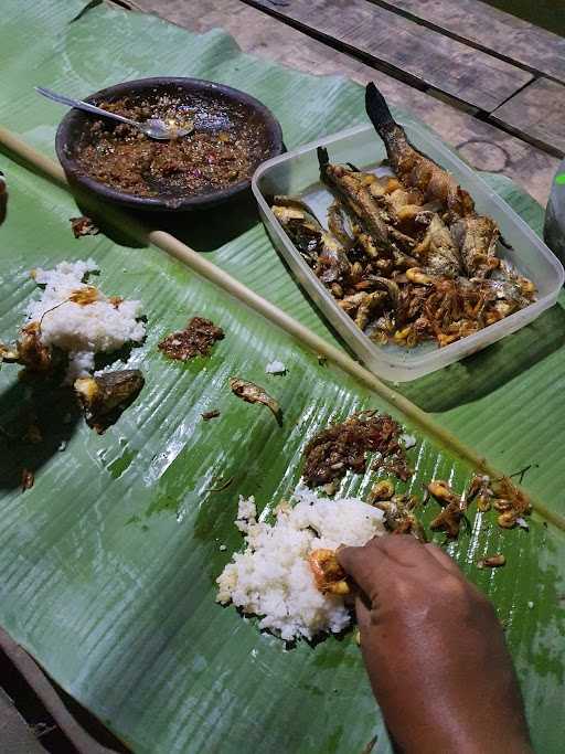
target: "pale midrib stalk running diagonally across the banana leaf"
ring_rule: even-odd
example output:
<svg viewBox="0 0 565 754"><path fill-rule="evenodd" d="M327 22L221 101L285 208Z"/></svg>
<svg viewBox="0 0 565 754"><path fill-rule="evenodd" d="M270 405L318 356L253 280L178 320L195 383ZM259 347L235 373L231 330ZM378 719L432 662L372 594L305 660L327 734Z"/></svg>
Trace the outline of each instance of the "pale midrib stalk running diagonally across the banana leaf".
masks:
<svg viewBox="0 0 565 754"><path fill-rule="evenodd" d="M2 126L0 126L0 145L3 145L9 152L18 157L20 160L24 160L29 166L35 168L52 180L68 189L68 183L60 164L51 160L45 155L42 155L40 151L20 139L20 137L15 136L15 134L12 134ZM81 199L84 199L86 203L89 202L90 204L93 204L94 201L90 195L86 194L82 194ZM100 210L100 204L98 202L95 202L95 206L98 211ZM243 301L250 309L265 317L265 319L268 319L270 322L288 332L288 334L290 334L295 340L308 347L315 353L326 357L328 361L337 364L340 369L350 374L361 384L371 389L377 395L395 406L399 412L402 412L426 433L434 435L440 445L443 445L449 452L456 453L460 458L465 459L481 474L484 474L492 479L500 479L504 476L498 469L491 466L486 458L478 455L465 443L461 443L461 440L458 439L451 432L438 425L429 416L429 414L419 408L412 401L408 401L406 397L404 397L404 395L401 395L387 384L382 382L372 372L354 361L344 351L327 342L323 338L320 338L320 336L301 325L294 317L290 317L290 315L287 315L285 311L282 311L282 309L263 298L263 296L256 294L254 290L248 288L246 285L237 280L225 270L217 267L212 262L205 259L203 255L199 254L193 248L190 248L190 246L182 243L170 233L147 229L126 212L107 206L106 204L104 205L103 212L105 219L111 224L116 225L118 229L127 229L127 231L137 241L143 244L152 244L153 246L157 246L163 251L166 254L169 254L169 256L179 259L179 262L182 262L184 265L186 265L186 267L190 267L202 277L206 278L214 285L237 298L239 301ZM537 513L543 516L547 521L551 521L559 529L565 530L565 517L550 510L543 502L533 499L531 495L527 495L527 498L531 500Z"/></svg>

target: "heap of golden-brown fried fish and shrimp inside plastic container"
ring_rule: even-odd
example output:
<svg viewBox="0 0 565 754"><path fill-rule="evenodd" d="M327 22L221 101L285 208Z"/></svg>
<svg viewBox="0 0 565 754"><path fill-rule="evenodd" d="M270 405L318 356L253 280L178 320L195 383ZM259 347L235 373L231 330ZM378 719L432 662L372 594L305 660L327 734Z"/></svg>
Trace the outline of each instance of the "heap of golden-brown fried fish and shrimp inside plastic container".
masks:
<svg viewBox="0 0 565 754"><path fill-rule="evenodd" d="M497 256L499 240L507 244L494 220L409 142L374 84L366 111L396 174L332 163L319 147L320 178L333 195L328 230L298 197L275 197L273 205L341 312L380 346L444 348L532 304L534 284Z"/></svg>

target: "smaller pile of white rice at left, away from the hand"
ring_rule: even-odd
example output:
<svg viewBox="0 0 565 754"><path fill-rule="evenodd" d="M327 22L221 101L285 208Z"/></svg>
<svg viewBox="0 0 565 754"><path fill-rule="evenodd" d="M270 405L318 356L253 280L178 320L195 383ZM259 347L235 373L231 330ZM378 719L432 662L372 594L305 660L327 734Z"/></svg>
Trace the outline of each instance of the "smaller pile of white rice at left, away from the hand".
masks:
<svg viewBox="0 0 565 754"><path fill-rule="evenodd" d="M35 269L33 276L45 289L28 307L28 322L41 321L41 340L68 353L65 382L72 383L94 370L95 353L111 353L127 342L140 342L146 334L140 301L115 306L97 289L96 300L86 306L70 301L72 294L93 287L83 283L98 270L93 259L61 262L54 269ZM56 308L55 308L56 307Z"/></svg>

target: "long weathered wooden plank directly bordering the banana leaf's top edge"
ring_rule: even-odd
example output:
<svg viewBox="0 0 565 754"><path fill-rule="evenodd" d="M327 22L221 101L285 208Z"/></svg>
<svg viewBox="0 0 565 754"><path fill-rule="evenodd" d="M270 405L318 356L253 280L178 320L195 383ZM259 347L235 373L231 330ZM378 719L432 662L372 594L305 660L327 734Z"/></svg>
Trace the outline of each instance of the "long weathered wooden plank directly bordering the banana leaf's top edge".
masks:
<svg viewBox="0 0 565 754"><path fill-rule="evenodd" d="M318 75L339 74L360 84L376 79L387 100L412 110L457 148L478 170L508 176L545 204L558 160L490 124L376 73L355 59L311 39L239 0L135 0L135 7L195 32L216 26L232 34L244 52Z"/></svg>

